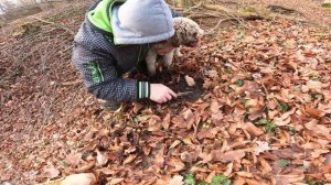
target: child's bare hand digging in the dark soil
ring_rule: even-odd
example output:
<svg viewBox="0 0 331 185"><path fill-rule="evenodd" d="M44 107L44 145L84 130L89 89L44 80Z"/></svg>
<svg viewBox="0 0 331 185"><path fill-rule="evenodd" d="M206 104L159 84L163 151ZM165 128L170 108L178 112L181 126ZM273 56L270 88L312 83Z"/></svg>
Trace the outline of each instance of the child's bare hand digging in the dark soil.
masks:
<svg viewBox="0 0 331 185"><path fill-rule="evenodd" d="M162 104L177 98L175 92L173 92L169 87L163 84L151 84L150 85L150 99Z"/></svg>

